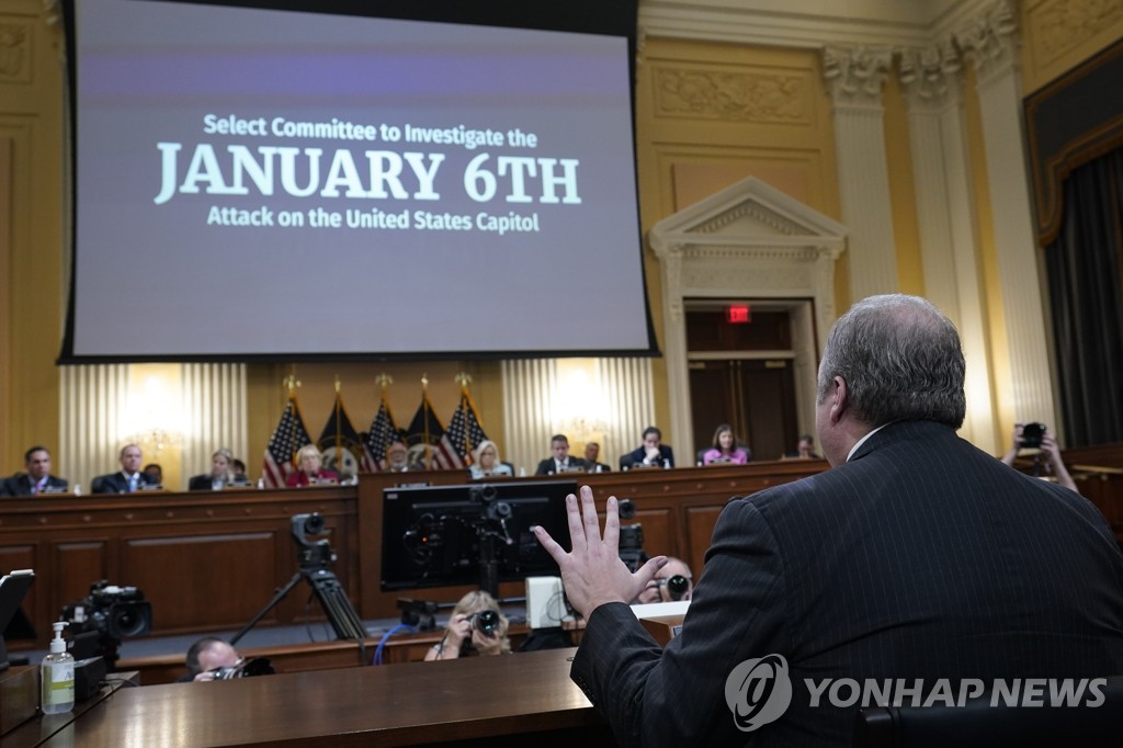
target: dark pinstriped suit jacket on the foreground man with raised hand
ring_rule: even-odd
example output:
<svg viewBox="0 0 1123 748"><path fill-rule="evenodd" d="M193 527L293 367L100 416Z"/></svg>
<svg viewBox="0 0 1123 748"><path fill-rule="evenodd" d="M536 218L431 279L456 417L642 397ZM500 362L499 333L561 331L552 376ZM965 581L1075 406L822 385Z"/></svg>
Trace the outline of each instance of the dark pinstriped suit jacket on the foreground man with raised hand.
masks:
<svg viewBox="0 0 1123 748"><path fill-rule="evenodd" d="M741 732L725 678L773 653L792 704ZM811 708L804 678L922 677L930 691L940 677L1112 674L1123 556L1103 516L928 421L732 500L679 637L660 651L626 605L602 605L572 671L621 745L642 746L849 745L858 706Z"/></svg>

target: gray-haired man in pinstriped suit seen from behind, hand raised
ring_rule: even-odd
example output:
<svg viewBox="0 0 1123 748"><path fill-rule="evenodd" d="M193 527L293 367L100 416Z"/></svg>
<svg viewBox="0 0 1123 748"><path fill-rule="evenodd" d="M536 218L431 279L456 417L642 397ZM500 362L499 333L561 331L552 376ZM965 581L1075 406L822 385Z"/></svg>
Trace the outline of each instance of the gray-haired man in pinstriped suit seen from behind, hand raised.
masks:
<svg viewBox="0 0 1123 748"><path fill-rule="evenodd" d="M572 554L537 530L586 618L572 676L621 745L849 745L861 697L829 686L851 678L922 704L940 678L958 694L968 678L989 691L1123 673L1111 529L956 436L964 373L955 327L926 301L855 304L819 370L832 468L730 501L665 650L624 604L665 559L636 574L619 562L614 499L603 540L592 492L584 522L569 500ZM916 679L919 696L904 690Z"/></svg>

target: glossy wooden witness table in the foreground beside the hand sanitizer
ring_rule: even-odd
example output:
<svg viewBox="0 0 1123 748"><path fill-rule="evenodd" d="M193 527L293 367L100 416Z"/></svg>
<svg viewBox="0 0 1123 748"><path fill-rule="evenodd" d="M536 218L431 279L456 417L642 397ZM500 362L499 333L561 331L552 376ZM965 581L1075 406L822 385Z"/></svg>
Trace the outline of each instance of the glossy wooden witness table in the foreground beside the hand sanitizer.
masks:
<svg viewBox="0 0 1123 748"><path fill-rule="evenodd" d="M611 745L569 679L574 651L129 688L43 745Z"/></svg>

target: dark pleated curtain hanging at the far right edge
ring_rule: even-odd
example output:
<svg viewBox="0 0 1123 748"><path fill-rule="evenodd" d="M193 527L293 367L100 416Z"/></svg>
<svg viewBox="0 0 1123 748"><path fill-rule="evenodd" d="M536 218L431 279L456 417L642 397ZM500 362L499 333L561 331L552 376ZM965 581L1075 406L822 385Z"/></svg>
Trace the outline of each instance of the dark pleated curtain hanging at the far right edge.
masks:
<svg viewBox="0 0 1123 748"><path fill-rule="evenodd" d="M1074 170L1063 191L1046 263L1066 446L1123 441L1123 148Z"/></svg>

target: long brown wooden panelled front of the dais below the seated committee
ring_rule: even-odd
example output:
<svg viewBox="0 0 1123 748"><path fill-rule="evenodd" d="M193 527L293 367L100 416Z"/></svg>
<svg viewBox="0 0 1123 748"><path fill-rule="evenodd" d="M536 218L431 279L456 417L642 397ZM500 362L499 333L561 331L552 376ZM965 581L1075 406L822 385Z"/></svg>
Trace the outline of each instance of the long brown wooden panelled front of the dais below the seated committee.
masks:
<svg viewBox="0 0 1123 748"><path fill-rule="evenodd" d="M713 521L730 496L824 466L791 460L601 473L584 480L602 511L609 495L632 499L645 549L685 558L696 576ZM424 477L431 484L465 482L459 472ZM85 598L99 580L139 589L153 604L155 635L238 630L301 569L291 520L313 511L323 516L326 537L337 554L330 568L365 619L396 618L399 596L455 602L471 587L381 590L382 491L398 481L396 475L364 475L357 489L4 500L0 560L36 572L35 594L25 610L39 647L46 646L47 624L62 606ZM310 593L309 585L299 583L261 626L303 620ZM524 590L520 583L505 583L500 593L515 598ZM316 604L312 613L322 618Z"/></svg>

